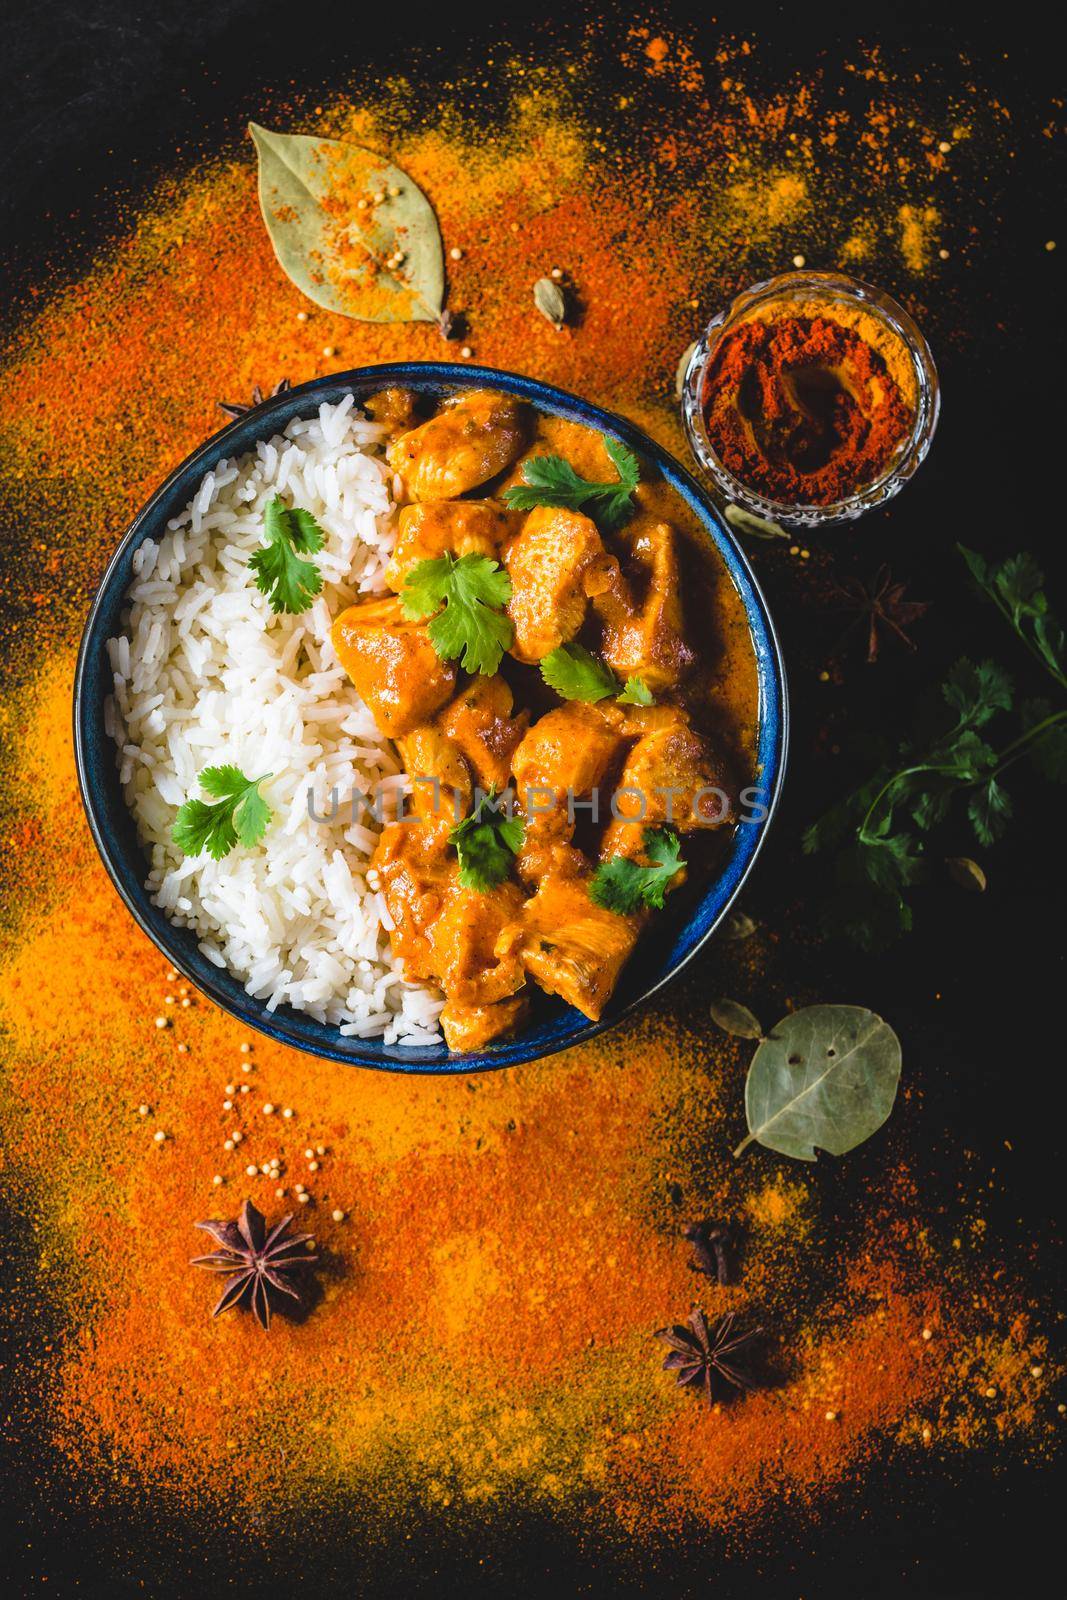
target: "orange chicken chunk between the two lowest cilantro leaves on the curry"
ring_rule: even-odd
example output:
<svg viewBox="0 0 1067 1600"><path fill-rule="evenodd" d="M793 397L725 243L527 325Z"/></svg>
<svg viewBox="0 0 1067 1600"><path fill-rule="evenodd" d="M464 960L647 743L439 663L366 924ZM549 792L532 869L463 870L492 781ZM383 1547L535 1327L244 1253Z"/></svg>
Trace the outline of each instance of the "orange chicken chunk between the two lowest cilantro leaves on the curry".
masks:
<svg viewBox="0 0 1067 1600"><path fill-rule="evenodd" d="M512 771L526 818L517 864L526 883L584 867L584 858L571 845L574 808L569 802L587 800L601 789L624 746L621 726L622 714L614 706L605 710L568 701L541 717L515 750ZM597 800L606 813L609 795L598 792Z"/></svg>

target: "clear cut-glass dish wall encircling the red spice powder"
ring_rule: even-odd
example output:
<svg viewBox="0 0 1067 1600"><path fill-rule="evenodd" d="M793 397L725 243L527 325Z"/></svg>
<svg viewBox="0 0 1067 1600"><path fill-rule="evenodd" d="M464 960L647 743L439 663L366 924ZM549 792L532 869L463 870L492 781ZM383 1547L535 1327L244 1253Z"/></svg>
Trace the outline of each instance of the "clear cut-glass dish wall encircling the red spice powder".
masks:
<svg viewBox="0 0 1067 1600"><path fill-rule="evenodd" d="M789 306L790 301L805 307L811 307L813 302L862 306L869 315L897 336L915 373L915 422L909 438L897 446L880 478L829 506L776 501L742 483L715 454L704 422L704 374L720 341L739 323L749 322L761 307L779 302ZM851 522L893 499L925 459L937 427L939 410L937 368L929 346L909 314L881 290L837 272L782 272L776 278L753 283L752 288L744 290L731 306L709 322L702 339L693 349L681 387L681 421L699 464L734 504L787 528L825 528L832 523Z"/></svg>

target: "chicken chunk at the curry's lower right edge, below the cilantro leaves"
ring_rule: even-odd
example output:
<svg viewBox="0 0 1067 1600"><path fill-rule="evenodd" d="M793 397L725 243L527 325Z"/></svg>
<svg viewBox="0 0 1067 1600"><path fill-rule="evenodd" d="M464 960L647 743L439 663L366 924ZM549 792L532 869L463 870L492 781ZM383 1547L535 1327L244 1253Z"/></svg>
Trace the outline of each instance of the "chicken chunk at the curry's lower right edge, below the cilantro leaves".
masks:
<svg viewBox="0 0 1067 1600"><path fill-rule="evenodd" d="M637 942L640 923L589 898L589 878L542 878L525 906L523 965L549 994L593 1022Z"/></svg>

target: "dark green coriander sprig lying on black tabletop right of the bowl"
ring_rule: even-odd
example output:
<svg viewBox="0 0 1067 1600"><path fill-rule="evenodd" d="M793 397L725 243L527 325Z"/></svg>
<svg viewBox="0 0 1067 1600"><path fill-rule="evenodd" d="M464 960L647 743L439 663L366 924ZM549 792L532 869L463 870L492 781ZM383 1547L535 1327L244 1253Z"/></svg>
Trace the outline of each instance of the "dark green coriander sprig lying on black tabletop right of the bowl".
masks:
<svg viewBox="0 0 1067 1600"><path fill-rule="evenodd" d="M960 549L979 587L1033 659L1061 690L1067 688L1064 632L1049 613L1032 557L995 563ZM907 891L925 877L926 835L947 819L957 797L966 800L977 843L990 846L1013 818L1013 800L1001 784L1009 766L1030 757L1046 778L1067 781L1067 707L1048 699L1024 701L1021 731L997 749L979 731L1014 706L1014 685L997 662L958 661L941 698L949 723L905 741L897 762L885 762L803 837L806 853L837 853L825 922L864 949L878 949L910 930Z"/></svg>

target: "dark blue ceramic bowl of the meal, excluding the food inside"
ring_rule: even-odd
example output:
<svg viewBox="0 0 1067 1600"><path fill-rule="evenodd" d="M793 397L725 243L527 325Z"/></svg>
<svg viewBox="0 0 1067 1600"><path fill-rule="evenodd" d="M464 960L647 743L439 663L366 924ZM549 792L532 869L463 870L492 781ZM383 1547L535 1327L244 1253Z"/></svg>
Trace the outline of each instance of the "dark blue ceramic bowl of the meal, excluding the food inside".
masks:
<svg viewBox="0 0 1067 1600"><path fill-rule="evenodd" d="M382 1045L378 1040L342 1038L334 1027L317 1022L290 1006L283 1005L277 1011L267 1011L262 1002L253 1000L245 992L237 978L219 971L218 966L205 960L197 949L194 933L174 928L163 912L150 902L144 890L144 851L118 786L114 741L104 731L104 699L110 693L110 669L104 643L118 632L120 611L133 581L133 552L138 546L147 538L158 539L163 534L168 518L178 515L192 499L197 483L221 456L240 456L253 450L258 440L282 432L291 418L310 416L323 400L338 402L347 394L355 394L357 400L362 400L386 384L402 384L434 397L486 386L504 389L528 400L539 411L584 422L587 427L611 434L640 451L693 507L707 528L709 539L718 547L729 581L744 602L760 678L757 762L758 787L768 810L766 819L760 826L739 826L721 861L718 877L709 883L702 896L693 901L686 894L681 915L672 914L669 909L648 930L632 962L624 970L616 995L600 1022L590 1022L579 1011L558 1000L545 1000L534 1008L530 1026L515 1038L470 1054L456 1054L445 1045L405 1048ZM737 898L760 853L782 786L787 723L785 672L766 602L737 541L689 474L683 472L665 450L630 422L624 422L598 406L587 405L561 389L552 389L533 378L518 378L488 368L456 366L450 362L363 366L350 373L318 378L299 389L264 400L237 422L214 434L176 472L171 472L134 518L115 550L85 624L74 690L78 782L93 838L115 888L154 944L197 989L210 995L232 1016L270 1038L315 1056L325 1056L330 1061L360 1062L392 1072L475 1072L534 1061L539 1056L550 1056L569 1045L577 1045L584 1038L592 1038L657 994L712 936ZM680 894L677 899L681 901L683 896Z"/></svg>

